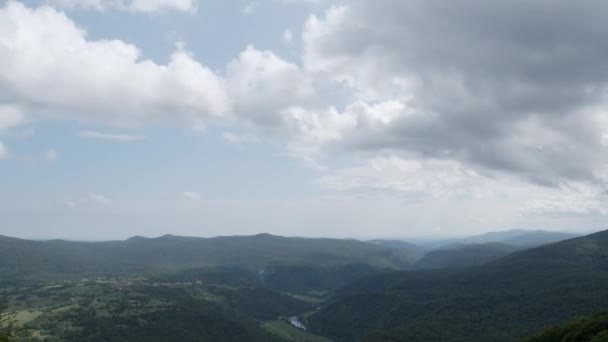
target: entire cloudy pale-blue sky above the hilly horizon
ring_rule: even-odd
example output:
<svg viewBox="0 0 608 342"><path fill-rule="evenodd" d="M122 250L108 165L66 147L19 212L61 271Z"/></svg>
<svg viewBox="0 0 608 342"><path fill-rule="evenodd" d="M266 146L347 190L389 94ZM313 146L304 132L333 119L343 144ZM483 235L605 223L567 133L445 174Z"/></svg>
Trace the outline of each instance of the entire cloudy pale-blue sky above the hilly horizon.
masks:
<svg viewBox="0 0 608 342"><path fill-rule="evenodd" d="M0 0L0 235L604 229L607 15Z"/></svg>

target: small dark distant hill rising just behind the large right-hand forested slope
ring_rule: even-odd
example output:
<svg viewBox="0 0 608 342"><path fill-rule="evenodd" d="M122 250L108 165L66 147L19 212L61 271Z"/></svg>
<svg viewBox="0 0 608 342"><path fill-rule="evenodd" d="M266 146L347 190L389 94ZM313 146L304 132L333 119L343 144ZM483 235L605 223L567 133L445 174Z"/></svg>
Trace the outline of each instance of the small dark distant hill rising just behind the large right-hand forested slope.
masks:
<svg viewBox="0 0 608 342"><path fill-rule="evenodd" d="M463 268L477 266L520 250L521 247L503 243L480 243L447 246L428 252L416 268Z"/></svg>

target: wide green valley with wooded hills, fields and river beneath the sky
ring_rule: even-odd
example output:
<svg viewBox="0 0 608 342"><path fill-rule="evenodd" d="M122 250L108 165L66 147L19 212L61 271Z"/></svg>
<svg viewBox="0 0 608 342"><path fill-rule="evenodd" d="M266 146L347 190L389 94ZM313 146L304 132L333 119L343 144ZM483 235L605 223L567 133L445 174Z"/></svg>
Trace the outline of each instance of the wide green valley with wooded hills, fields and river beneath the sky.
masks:
<svg viewBox="0 0 608 342"><path fill-rule="evenodd" d="M1 238L0 305L19 341L509 341L608 305L605 235L541 247Z"/></svg>

